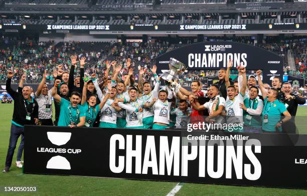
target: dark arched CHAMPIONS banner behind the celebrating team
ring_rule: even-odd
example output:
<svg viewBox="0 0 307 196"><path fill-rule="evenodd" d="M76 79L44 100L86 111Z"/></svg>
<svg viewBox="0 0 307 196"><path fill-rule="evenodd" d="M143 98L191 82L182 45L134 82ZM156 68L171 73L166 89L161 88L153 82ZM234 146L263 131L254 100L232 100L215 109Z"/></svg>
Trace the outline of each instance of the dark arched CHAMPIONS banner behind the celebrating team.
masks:
<svg viewBox="0 0 307 196"><path fill-rule="evenodd" d="M184 63L188 70L227 69L227 61L233 59L232 70L239 64L246 70L262 70L263 82L277 76L282 78L283 59L267 50L235 42L201 42L187 45L159 56L156 60L157 73L169 70L170 58Z"/></svg>

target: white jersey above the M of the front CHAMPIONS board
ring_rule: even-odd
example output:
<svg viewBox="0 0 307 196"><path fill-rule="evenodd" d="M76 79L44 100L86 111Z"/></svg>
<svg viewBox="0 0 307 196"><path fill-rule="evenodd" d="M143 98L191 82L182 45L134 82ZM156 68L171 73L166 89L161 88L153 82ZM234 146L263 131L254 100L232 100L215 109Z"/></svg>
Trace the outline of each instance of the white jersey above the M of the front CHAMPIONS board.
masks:
<svg viewBox="0 0 307 196"><path fill-rule="evenodd" d="M154 123L160 122L164 124L170 124L170 111L172 102L165 101L164 103L158 99L154 104Z"/></svg>

